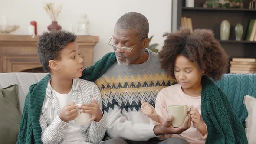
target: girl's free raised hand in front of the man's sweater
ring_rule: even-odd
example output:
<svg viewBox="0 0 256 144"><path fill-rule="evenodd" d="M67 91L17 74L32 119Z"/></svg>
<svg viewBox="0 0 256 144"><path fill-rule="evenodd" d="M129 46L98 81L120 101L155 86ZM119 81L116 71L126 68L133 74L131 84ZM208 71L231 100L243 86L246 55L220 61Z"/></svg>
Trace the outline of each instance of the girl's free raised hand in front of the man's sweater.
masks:
<svg viewBox="0 0 256 144"><path fill-rule="evenodd" d="M149 118L151 118L153 121L159 122L158 114L155 111L154 107L145 101L141 101L141 104L141 111Z"/></svg>

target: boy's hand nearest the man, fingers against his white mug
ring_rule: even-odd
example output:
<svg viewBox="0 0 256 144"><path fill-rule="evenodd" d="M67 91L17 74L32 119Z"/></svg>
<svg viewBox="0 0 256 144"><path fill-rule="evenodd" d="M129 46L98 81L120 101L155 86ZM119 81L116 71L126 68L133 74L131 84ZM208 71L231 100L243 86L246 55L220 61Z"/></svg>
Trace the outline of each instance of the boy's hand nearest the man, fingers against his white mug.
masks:
<svg viewBox="0 0 256 144"><path fill-rule="evenodd" d="M90 121L94 120L98 122L99 120L101 120L103 116L102 111L100 110L100 107L98 105L98 102L94 98L92 98L92 103L82 104L81 107L79 107L78 109L80 109L81 112L91 114L92 118L90 119Z"/></svg>

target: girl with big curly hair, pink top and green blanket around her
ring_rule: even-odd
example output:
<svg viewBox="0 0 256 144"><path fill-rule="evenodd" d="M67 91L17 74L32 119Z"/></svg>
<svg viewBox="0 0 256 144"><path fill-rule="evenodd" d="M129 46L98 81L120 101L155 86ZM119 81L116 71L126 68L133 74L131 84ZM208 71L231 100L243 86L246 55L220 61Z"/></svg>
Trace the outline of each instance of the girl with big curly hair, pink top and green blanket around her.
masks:
<svg viewBox="0 0 256 144"><path fill-rule="evenodd" d="M151 118L151 124L167 119L169 105L191 105L191 127L164 138L181 137L190 144L247 144L244 128L226 95L208 78L221 79L228 64L228 56L213 32L197 29L190 33L182 28L164 36L167 39L159 52L161 66L178 84L158 93L155 109L142 101L141 110Z"/></svg>

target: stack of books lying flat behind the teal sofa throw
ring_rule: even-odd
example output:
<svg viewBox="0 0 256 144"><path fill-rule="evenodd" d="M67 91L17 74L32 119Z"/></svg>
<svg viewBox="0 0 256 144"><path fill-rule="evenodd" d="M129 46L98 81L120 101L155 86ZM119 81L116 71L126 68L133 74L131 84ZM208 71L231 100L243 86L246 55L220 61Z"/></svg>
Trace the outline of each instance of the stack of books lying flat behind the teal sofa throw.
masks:
<svg viewBox="0 0 256 144"><path fill-rule="evenodd" d="M254 58L233 58L230 65L230 73L256 73Z"/></svg>

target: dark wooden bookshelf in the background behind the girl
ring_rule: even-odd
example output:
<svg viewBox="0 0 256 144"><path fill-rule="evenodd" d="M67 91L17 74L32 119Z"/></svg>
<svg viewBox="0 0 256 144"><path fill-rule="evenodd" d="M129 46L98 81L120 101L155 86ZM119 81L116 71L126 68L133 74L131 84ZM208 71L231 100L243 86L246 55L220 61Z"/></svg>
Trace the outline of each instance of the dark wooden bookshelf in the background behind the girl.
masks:
<svg viewBox="0 0 256 144"><path fill-rule="evenodd" d="M213 30L215 38L218 39L230 59L233 57L256 58L256 42L245 40L249 20L256 19L256 10L249 9L251 0L243 0L244 8L204 8L203 4L206 1L194 0L194 7L185 7L185 0L173 0L172 31L181 27L181 17L190 17L193 29ZM223 20L230 22L230 39L225 41L220 40L220 24ZM235 40L237 23L243 25L242 41Z"/></svg>

